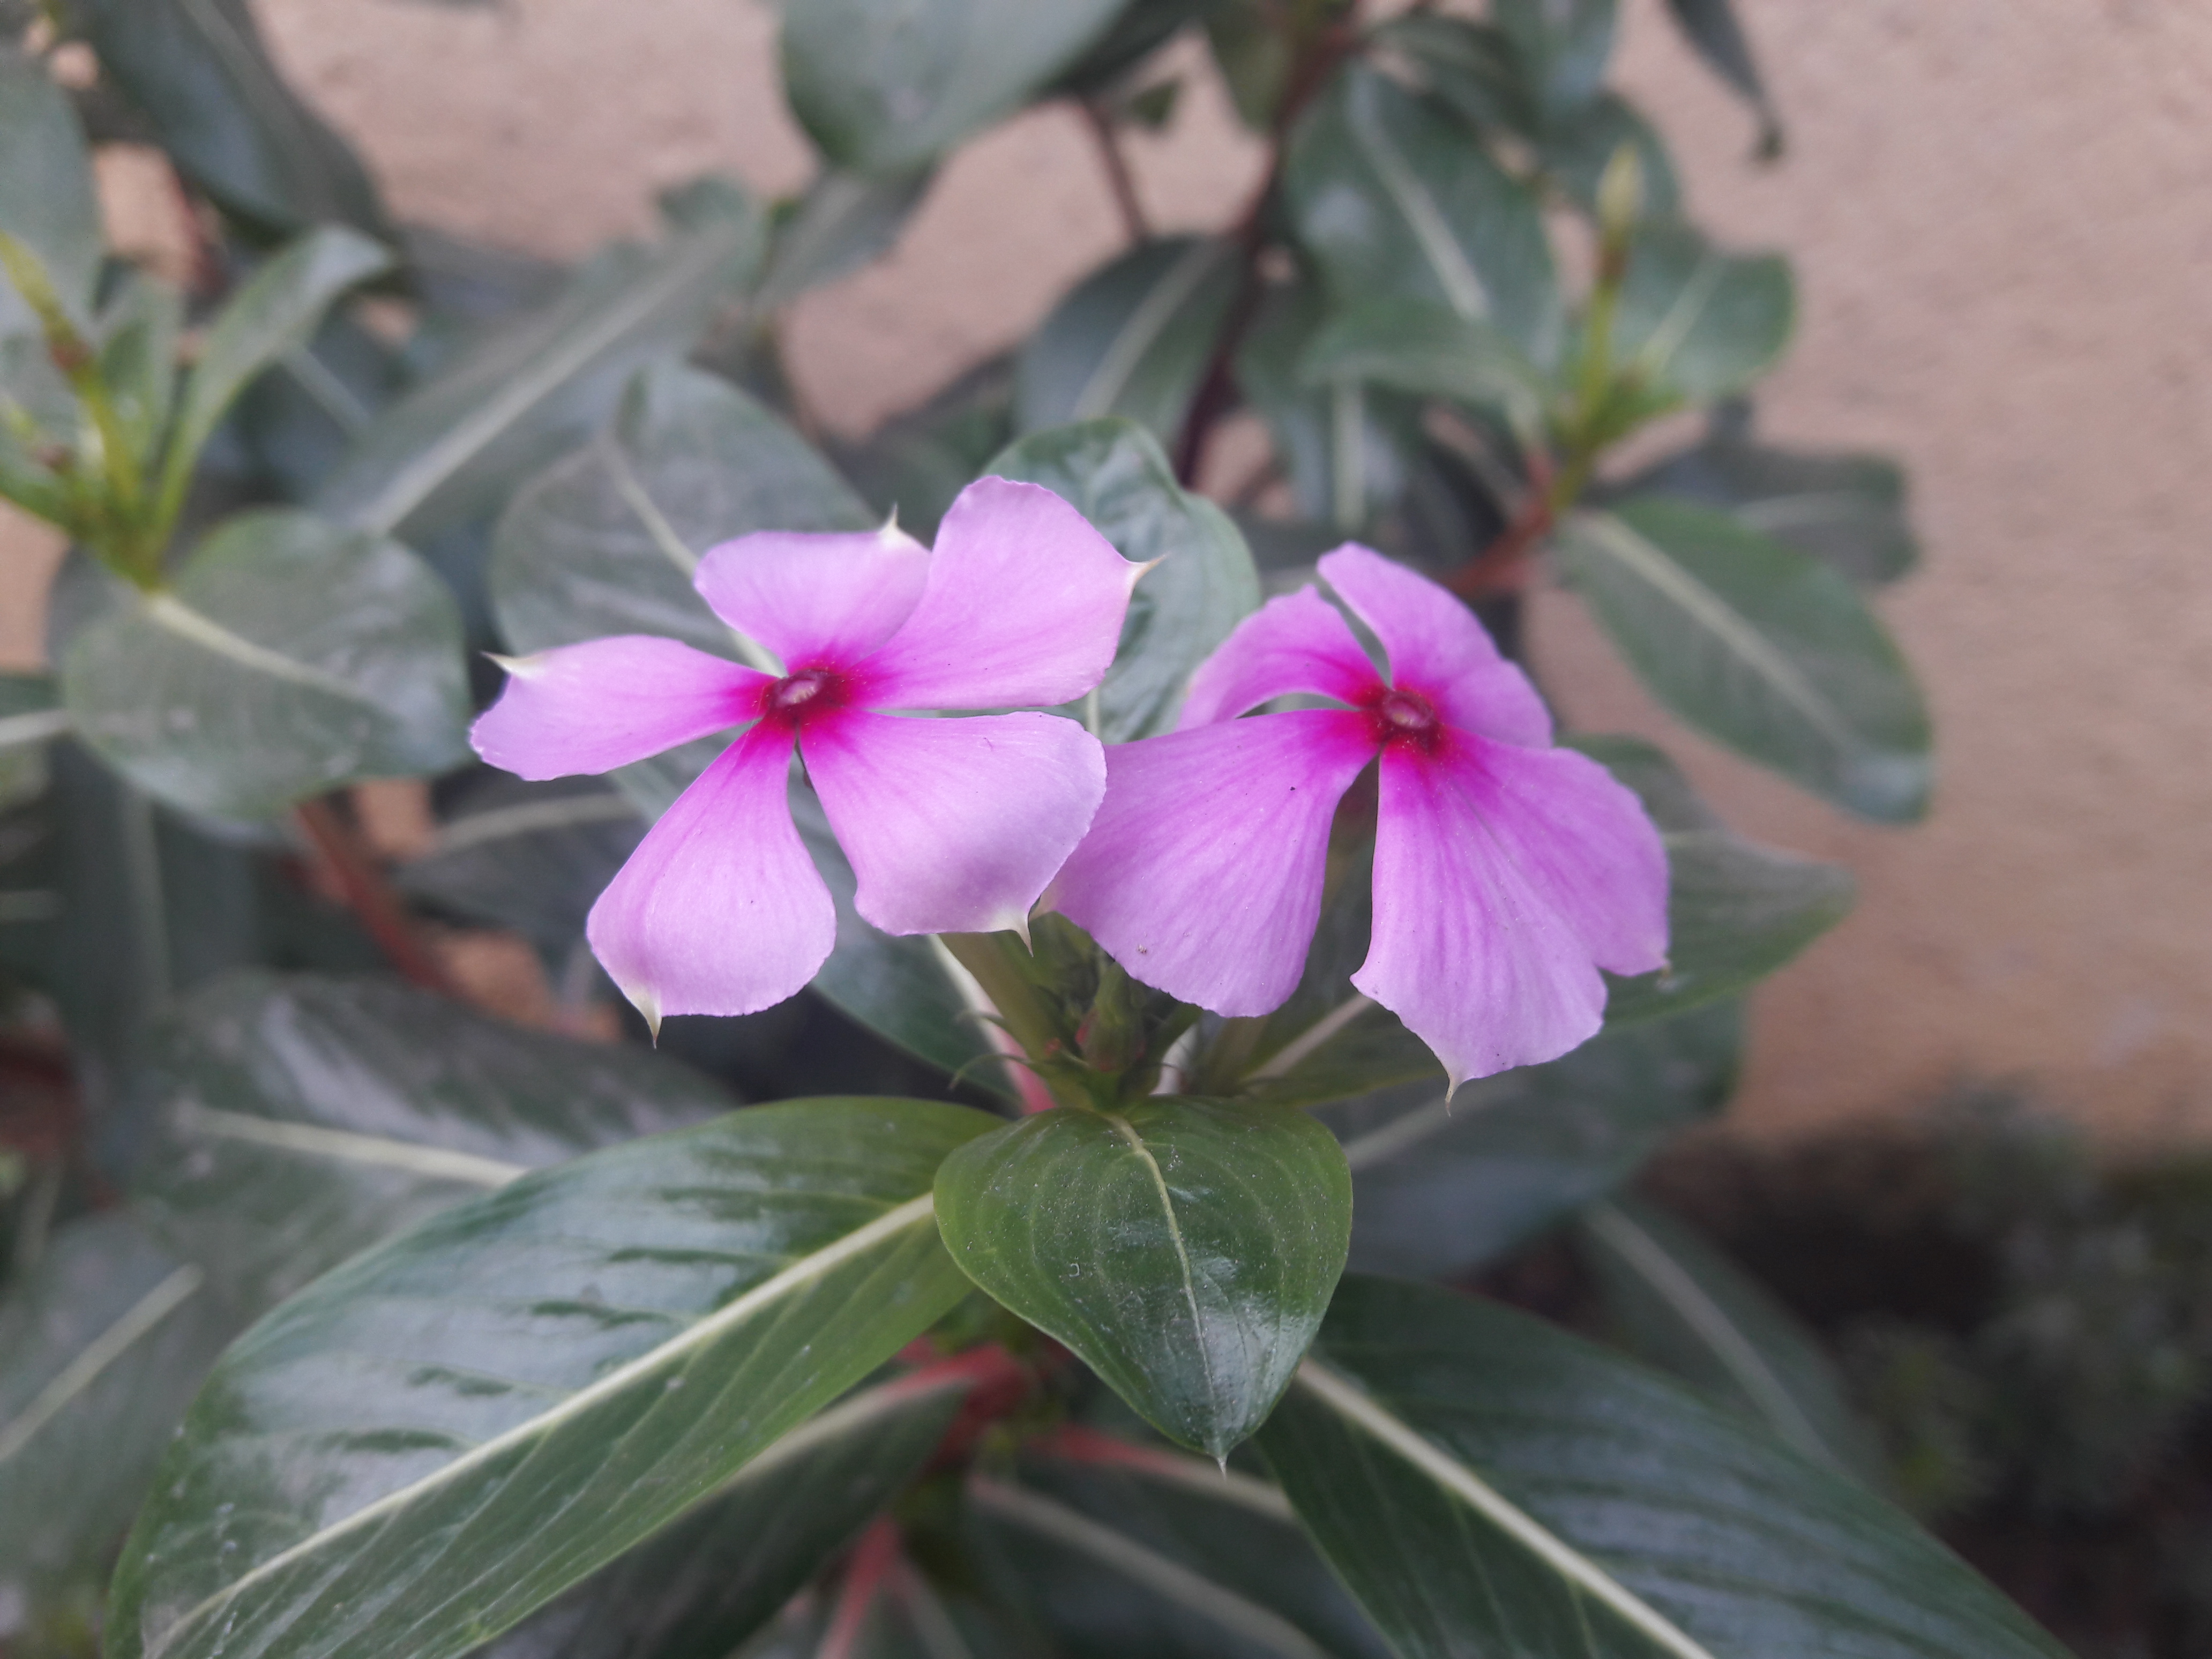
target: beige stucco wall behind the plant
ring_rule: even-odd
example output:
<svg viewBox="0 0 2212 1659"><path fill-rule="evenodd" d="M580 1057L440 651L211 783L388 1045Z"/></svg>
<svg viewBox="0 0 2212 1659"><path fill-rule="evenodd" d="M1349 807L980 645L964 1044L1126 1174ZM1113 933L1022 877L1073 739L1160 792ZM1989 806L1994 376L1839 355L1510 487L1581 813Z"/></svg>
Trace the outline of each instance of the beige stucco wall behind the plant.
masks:
<svg viewBox="0 0 2212 1659"><path fill-rule="evenodd" d="M1913 467L1927 573L1887 602L1922 666L1942 796L1845 823L1668 734L1743 827L1849 863L1858 916L1761 991L1743 1113L1774 1128L2028 1077L2115 1135L2212 1133L2212 7L1739 0L1790 128L1743 113L1628 0L1624 73L1692 204L1798 261L1763 429ZM745 0L261 0L276 46L407 217L553 252L646 228L653 186L796 186L805 146ZM1166 226L1219 221L1256 157L1208 86L1139 139ZM792 327L858 429L1026 332L1117 246L1082 131L967 150L896 254ZM33 555L9 553L27 568ZM0 650L22 650L11 615ZM1571 714L1666 732L1575 604L1537 648Z"/></svg>

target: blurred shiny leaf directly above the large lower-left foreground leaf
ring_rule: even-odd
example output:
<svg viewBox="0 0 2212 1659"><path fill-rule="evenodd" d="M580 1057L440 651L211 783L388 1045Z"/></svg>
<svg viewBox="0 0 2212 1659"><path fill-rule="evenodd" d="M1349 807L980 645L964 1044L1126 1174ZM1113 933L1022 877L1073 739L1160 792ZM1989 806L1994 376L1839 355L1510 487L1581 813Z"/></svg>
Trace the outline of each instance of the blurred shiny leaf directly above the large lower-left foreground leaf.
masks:
<svg viewBox="0 0 2212 1659"><path fill-rule="evenodd" d="M732 1104L641 1048L305 973L234 973L186 998L148 1035L131 1095L135 1203L252 1312L533 1168Z"/></svg>

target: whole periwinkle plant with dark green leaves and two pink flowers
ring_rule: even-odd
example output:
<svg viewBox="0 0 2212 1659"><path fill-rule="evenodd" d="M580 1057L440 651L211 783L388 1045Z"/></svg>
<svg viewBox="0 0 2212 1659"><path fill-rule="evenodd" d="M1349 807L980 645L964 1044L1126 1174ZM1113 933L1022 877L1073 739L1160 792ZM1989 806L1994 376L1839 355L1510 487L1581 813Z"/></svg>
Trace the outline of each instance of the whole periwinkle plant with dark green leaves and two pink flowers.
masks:
<svg viewBox="0 0 2212 1659"><path fill-rule="evenodd" d="M1513 650L1564 575L1686 723L1909 821L1896 473L1750 436L1790 274L1681 217L1608 0L1380 11L785 0L816 181L566 272L396 232L237 0L18 29L0 495L75 551L0 688L11 1652L2053 1652L1608 1203L1849 878ZM1024 104L1126 186L1194 33L1237 223L1119 190L1011 361L810 442L781 307ZM190 292L104 254L86 119L206 210ZM1703 1296L1725 1360L1659 1363L1770 1387L1418 1283L1568 1221Z"/></svg>

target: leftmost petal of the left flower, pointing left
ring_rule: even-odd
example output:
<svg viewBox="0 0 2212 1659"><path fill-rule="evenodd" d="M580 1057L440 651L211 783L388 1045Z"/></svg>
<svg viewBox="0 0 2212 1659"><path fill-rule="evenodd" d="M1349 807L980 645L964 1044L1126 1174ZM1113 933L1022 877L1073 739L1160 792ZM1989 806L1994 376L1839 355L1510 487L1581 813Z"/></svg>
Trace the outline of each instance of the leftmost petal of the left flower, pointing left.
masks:
<svg viewBox="0 0 2212 1659"><path fill-rule="evenodd" d="M524 779L613 772L761 717L772 681L703 650L628 633L507 661L469 741Z"/></svg>

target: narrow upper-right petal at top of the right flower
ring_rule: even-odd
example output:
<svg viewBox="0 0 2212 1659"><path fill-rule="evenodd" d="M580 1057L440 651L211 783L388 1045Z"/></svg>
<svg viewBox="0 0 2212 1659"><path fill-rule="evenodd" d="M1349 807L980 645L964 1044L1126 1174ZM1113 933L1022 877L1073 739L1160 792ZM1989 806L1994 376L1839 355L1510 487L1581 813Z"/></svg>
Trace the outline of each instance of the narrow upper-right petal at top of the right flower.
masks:
<svg viewBox="0 0 2212 1659"><path fill-rule="evenodd" d="M1551 743L1528 675L1498 655L1475 613L1425 575L1358 542L1321 555L1321 575L1389 653L1389 677L1436 703L1447 726L1504 743Z"/></svg>

